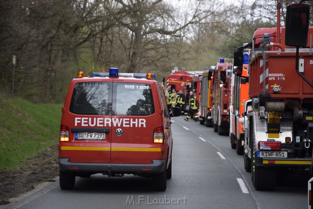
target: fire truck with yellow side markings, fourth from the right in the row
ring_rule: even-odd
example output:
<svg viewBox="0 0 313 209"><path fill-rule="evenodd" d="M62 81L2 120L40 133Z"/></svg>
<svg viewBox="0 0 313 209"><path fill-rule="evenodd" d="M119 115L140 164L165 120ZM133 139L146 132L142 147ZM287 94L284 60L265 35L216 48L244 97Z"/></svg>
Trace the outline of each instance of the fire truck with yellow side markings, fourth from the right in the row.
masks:
<svg viewBox="0 0 313 209"><path fill-rule="evenodd" d="M212 127L212 97L213 97L213 76L215 66L206 68L203 70L201 80L201 92L200 92L200 103L199 103L199 121L200 124L205 124L206 127Z"/></svg>

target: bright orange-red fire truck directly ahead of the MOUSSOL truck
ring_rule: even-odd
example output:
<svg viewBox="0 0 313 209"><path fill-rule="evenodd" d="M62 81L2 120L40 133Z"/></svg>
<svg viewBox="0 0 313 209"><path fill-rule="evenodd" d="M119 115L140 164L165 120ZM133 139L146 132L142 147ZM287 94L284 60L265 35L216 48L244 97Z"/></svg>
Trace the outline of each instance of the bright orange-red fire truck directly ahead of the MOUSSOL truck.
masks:
<svg viewBox="0 0 313 209"><path fill-rule="evenodd" d="M249 100L249 51L250 44L244 45L241 76L231 75L229 101L229 138L237 154L244 154L244 104Z"/></svg>

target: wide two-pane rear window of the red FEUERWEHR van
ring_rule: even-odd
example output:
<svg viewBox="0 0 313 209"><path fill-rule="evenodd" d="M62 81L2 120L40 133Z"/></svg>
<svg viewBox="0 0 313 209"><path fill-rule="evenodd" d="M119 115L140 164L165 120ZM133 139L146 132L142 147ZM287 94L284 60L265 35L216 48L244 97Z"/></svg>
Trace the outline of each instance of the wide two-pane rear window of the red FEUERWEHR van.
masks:
<svg viewBox="0 0 313 209"><path fill-rule="evenodd" d="M154 114L151 86L141 83L79 82L74 86L69 111L79 115Z"/></svg>

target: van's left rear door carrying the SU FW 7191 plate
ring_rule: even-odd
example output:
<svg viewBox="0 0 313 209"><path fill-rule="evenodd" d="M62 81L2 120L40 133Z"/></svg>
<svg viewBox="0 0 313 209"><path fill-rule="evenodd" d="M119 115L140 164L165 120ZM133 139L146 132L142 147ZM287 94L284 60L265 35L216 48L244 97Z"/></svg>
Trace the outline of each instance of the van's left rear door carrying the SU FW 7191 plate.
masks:
<svg viewBox="0 0 313 209"><path fill-rule="evenodd" d="M71 100L65 101L68 115L61 122L71 127L70 140L62 142L60 157L73 163L110 163L112 80L108 81L71 83Z"/></svg>

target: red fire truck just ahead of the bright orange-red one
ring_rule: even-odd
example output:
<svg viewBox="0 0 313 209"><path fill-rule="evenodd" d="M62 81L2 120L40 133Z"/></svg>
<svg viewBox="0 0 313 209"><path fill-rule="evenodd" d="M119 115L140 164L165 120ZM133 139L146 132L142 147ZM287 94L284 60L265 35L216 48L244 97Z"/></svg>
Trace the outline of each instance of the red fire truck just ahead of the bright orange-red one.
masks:
<svg viewBox="0 0 313 209"><path fill-rule="evenodd" d="M230 74L233 64L224 61L220 59L214 71L213 130L219 135L229 134Z"/></svg>

